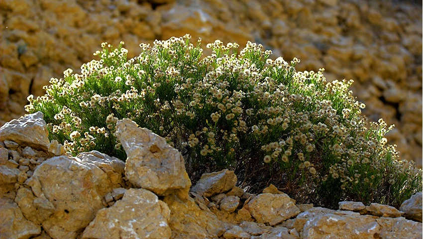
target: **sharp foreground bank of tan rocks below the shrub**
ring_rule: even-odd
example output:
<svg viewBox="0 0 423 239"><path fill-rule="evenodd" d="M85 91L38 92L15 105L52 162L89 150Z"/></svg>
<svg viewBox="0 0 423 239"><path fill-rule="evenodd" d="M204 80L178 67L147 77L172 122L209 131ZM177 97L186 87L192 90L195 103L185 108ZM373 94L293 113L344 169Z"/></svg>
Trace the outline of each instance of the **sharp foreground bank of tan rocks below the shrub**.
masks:
<svg viewBox="0 0 423 239"><path fill-rule="evenodd" d="M190 191L181 154L129 119L116 131L126 164L97 151L70 157L46 128L40 112L0 128L0 239L422 238L422 193L401 211L360 202L330 210L273 185L249 194L228 170Z"/></svg>

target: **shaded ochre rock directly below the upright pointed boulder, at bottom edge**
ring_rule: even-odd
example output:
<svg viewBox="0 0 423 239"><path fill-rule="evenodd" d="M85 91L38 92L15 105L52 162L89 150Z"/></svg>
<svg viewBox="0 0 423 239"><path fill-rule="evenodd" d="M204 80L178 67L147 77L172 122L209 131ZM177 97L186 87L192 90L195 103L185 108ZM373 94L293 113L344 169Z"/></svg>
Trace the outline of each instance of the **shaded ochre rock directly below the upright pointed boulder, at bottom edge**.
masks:
<svg viewBox="0 0 423 239"><path fill-rule="evenodd" d="M172 238L218 238L225 231L225 225L210 210L202 210L194 199L183 202L171 195L163 200L170 209L169 226Z"/></svg>

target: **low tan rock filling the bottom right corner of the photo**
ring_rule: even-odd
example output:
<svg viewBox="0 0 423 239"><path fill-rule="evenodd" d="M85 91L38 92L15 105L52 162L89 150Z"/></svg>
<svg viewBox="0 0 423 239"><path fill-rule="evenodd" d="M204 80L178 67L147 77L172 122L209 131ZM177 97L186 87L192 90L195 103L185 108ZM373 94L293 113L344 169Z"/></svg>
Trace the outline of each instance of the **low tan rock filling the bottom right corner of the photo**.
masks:
<svg viewBox="0 0 423 239"><path fill-rule="evenodd" d="M416 239L422 238L422 223L399 218L376 219L380 225L380 238L383 239Z"/></svg>

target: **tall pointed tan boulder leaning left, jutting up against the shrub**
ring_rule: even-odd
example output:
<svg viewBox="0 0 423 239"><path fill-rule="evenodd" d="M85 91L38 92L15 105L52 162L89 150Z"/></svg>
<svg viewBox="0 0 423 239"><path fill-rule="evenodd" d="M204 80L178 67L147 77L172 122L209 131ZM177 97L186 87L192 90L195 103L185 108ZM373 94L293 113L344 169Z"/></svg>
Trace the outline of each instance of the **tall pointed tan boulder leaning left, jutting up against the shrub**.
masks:
<svg viewBox="0 0 423 239"><path fill-rule="evenodd" d="M166 140L130 119L118 120L116 136L126 151L126 177L136 187L157 195L178 194L188 198L191 181L184 158Z"/></svg>

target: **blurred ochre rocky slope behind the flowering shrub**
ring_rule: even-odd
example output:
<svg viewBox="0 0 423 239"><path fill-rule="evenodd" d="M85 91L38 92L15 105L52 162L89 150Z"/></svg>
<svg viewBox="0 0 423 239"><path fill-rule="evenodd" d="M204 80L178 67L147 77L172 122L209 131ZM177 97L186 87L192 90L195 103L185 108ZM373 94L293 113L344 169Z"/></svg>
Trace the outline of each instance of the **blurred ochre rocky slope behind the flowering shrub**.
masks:
<svg viewBox="0 0 423 239"><path fill-rule="evenodd" d="M300 71L325 68L353 79L372 121L396 127L388 142L422 167L422 1L415 0L0 0L0 125L25 114L51 77L95 58L102 42L141 42L190 33L273 57Z"/></svg>

